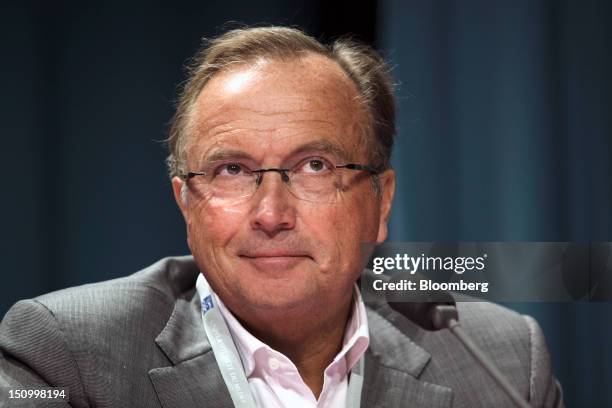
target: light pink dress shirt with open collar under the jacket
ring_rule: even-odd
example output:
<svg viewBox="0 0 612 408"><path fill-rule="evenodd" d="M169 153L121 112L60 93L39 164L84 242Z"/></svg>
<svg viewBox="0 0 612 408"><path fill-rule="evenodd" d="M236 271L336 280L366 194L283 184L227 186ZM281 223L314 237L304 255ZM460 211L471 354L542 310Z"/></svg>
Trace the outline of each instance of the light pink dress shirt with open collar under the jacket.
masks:
<svg viewBox="0 0 612 408"><path fill-rule="evenodd" d="M223 304L215 300L234 339L249 387L261 408L344 408L348 373L370 343L365 306L355 285L353 313L346 326L342 349L324 372L323 390L317 400L297 368L284 354L249 333Z"/></svg>

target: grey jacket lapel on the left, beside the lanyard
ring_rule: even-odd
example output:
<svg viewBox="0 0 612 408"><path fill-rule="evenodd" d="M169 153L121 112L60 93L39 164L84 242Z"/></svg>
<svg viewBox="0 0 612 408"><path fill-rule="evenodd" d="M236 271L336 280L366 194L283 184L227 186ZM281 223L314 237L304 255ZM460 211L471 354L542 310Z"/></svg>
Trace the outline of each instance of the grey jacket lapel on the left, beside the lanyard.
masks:
<svg viewBox="0 0 612 408"><path fill-rule="evenodd" d="M172 366L149 371L164 408L233 407L206 338L197 292L177 300L155 342L172 362Z"/></svg>

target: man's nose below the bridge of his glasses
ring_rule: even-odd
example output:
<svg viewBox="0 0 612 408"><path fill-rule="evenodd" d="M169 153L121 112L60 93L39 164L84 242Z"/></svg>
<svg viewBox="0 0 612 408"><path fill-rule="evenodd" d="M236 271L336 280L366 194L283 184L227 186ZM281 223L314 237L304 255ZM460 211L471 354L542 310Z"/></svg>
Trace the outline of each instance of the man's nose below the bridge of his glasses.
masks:
<svg viewBox="0 0 612 408"><path fill-rule="evenodd" d="M295 228L296 212L285 182L285 173L261 174L259 187L252 197L251 228L273 237L281 231Z"/></svg>

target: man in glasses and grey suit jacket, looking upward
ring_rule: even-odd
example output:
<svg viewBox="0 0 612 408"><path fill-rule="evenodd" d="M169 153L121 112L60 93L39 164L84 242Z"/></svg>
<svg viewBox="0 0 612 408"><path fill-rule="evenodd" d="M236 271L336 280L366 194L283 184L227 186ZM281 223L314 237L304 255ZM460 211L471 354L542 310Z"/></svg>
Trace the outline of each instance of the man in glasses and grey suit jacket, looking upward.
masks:
<svg viewBox="0 0 612 408"><path fill-rule="evenodd" d="M169 138L193 257L17 303L0 385L70 404L163 407L512 406L446 331L355 282L395 189L384 62L298 30L235 30L196 57ZM464 327L533 406L562 406L542 333L490 304Z"/></svg>

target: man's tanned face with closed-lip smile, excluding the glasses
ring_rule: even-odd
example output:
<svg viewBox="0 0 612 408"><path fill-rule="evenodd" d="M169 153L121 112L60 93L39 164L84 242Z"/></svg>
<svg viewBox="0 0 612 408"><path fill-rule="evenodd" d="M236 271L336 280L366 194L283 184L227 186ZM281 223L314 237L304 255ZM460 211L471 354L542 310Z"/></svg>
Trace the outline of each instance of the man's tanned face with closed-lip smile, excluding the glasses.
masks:
<svg viewBox="0 0 612 408"><path fill-rule="evenodd" d="M321 56L222 72L191 113L187 169L201 171L212 156L251 169L310 156L369 164L366 116L356 97L350 79ZM350 299L362 268L360 245L386 238L394 175L381 176L377 197L364 172L339 173L343 188L315 202L296 198L275 172L235 202L198 194L192 182L183 200L184 181L173 179L191 252L234 312L313 310Z"/></svg>

